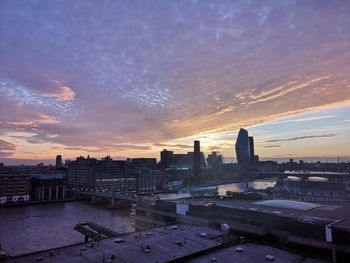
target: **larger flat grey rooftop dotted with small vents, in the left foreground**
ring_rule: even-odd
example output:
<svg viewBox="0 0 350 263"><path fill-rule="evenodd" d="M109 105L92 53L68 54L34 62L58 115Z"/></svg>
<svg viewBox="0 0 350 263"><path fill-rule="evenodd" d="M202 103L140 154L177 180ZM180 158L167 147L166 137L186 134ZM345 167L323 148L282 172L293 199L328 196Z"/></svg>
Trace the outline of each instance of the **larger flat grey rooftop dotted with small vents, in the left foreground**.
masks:
<svg viewBox="0 0 350 263"><path fill-rule="evenodd" d="M72 230L73 231L73 230ZM67 248L35 253L8 260L30 262L167 262L222 244L222 233L209 227L176 225L132 233ZM83 240L82 235L82 240ZM91 247L93 243L93 247ZM112 254L114 256L112 256Z"/></svg>

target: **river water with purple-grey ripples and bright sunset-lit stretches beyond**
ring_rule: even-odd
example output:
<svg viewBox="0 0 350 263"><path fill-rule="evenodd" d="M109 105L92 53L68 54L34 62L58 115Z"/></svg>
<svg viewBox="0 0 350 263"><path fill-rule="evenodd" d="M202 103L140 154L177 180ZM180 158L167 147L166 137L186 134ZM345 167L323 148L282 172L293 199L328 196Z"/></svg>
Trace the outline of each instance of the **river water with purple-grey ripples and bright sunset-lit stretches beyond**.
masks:
<svg viewBox="0 0 350 263"><path fill-rule="evenodd" d="M274 185L275 181L248 182L248 186L255 189ZM225 195L226 191L244 191L247 183L203 187L209 190L216 188L220 195ZM162 194L161 199L189 196L189 192ZM6 207L0 208L0 244L10 255L20 255L80 243L84 241L84 236L73 228L87 221L99 223L117 233L134 231L130 209L110 210L83 202Z"/></svg>

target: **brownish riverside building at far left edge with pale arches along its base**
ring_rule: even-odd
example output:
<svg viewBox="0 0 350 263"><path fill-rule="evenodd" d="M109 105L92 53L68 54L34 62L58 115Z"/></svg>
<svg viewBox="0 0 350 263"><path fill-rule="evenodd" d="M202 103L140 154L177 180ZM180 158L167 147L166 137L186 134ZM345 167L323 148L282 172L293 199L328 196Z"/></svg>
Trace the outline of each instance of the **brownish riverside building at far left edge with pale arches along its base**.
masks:
<svg viewBox="0 0 350 263"><path fill-rule="evenodd" d="M30 175L24 173L0 174L0 205L26 202L30 199Z"/></svg>

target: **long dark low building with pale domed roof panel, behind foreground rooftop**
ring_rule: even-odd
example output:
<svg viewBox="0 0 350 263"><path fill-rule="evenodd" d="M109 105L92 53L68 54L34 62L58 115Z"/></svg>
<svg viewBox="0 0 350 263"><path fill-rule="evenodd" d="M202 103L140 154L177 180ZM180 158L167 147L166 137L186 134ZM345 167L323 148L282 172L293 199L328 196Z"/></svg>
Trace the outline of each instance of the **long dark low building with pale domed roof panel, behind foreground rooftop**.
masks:
<svg viewBox="0 0 350 263"><path fill-rule="evenodd" d="M350 260L350 204L293 200L188 198L136 206L136 227L161 224L227 224L248 240L311 254L333 262ZM143 218L145 220L143 220Z"/></svg>

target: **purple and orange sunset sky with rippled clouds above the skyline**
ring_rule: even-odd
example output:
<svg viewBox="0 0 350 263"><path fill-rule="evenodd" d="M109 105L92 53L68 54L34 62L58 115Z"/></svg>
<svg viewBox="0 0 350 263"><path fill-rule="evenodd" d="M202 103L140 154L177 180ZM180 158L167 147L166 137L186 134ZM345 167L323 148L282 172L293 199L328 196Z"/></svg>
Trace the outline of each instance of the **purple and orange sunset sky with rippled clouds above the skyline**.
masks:
<svg viewBox="0 0 350 263"><path fill-rule="evenodd" d="M349 1L0 1L0 161L350 156Z"/></svg>

